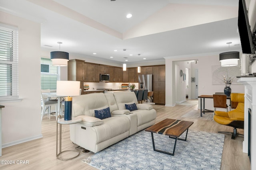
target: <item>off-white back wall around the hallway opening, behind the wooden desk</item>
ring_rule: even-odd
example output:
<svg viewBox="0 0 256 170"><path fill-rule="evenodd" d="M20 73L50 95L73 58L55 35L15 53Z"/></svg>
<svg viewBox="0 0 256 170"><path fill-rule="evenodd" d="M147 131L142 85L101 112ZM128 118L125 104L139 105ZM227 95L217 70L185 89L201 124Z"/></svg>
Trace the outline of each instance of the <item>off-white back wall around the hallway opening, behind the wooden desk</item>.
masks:
<svg viewBox="0 0 256 170"><path fill-rule="evenodd" d="M180 91L177 88L184 88L183 86L175 87L175 74L179 74L175 72L175 64L180 63L178 61L182 61L181 63L186 63L184 61L198 60L198 64L191 66L192 74L194 77L194 71L198 68L198 95L212 95L215 92L223 92L225 84L221 85L212 85L212 65L220 65L219 61L219 53L216 54L198 54L198 55L188 55L188 56L176 56L176 57L166 57L166 106L174 106L176 102L175 91ZM185 70L186 64L182 66L182 70ZM188 68L188 67L187 67ZM239 75L238 75L239 76ZM232 92L236 93L244 93L243 85L231 85ZM184 95L182 95L184 96ZM180 99L180 101L183 99ZM199 106L200 107L200 106ZM205 104L206 109L213 109L213 101L212 99L206 99Z"/></svg>

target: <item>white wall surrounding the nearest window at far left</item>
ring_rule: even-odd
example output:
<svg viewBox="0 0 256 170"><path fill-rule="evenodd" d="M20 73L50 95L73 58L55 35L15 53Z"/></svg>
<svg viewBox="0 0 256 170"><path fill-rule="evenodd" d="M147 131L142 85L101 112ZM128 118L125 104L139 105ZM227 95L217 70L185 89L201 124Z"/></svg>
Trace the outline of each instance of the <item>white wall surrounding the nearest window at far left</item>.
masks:
<svg viewBox="0 0 256 170"><path fill-rule="evenodd" d="M40 24L0 12L0 22L19 28L19 98L2 103L2 147L42 137L40 104ZM31 78L29 78L29 76Z"/></svg>

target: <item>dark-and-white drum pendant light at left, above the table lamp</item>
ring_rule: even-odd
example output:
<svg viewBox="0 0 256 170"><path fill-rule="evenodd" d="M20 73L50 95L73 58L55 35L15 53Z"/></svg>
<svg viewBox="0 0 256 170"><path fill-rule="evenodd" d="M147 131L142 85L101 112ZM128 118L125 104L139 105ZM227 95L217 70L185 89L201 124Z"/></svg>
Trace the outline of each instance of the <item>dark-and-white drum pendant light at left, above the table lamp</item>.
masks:
<svg viewBox="0 0 256 170"><path fill-rule="evenodd" d="M62 42L57 42L59 45ZM63 51L52 51L50 53L50 59L54 66L68 66L69 54Z"/></svg>

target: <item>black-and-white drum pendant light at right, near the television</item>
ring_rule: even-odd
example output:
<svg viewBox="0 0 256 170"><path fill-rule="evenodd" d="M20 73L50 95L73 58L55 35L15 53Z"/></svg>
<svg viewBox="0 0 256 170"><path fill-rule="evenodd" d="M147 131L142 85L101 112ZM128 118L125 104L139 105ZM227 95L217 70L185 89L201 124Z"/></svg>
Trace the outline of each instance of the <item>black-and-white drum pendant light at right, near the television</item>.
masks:
<svg viewBox="0 0 256 170"><path fill-rule="evenodd" d="M227 42L228 52L220 53L221 66L237 66L239 58L239 51L229 51L229 46L232 42Z"/></svg>

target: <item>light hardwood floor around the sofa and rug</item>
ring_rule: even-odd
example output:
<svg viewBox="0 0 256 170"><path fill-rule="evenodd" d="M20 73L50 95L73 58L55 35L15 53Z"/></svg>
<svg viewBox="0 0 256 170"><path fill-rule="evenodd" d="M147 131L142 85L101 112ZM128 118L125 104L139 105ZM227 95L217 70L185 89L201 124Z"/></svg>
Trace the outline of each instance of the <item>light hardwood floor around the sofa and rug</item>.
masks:
<svg viewBox="0 0 256 170"><path fill-rule="evenodd" d="M156 123L166 118L194 121L190 129L217 133L218 131L232 131L232 127L219 125L215 121L189 119L181 117L196 106L177 105L165 107L155 105L157 111ZM212 114L212 113L206 113ZM242 130L238 130L243 134ZM62 125L62 150L76 149L80 155L71 160L56 158L56 121L54 117L42 121L41 139L29 141L12 147L2 149L0 160L14 160L15 164L0 164L1 170L96 170L81 160L92 155L92 152L83 153L82 149L72 144L69 137L69 126ZM246 153L242 152L243 137L231 140L231 135L225 135L221 170L250 170L250 161ZM64 155L63 155L64 156ZM70 155L68 155L70 156ZM17 160L27 160L28 164L17 164ZM25 162L26 163L26 162Z"/></svg>

